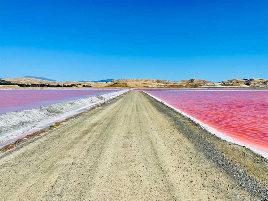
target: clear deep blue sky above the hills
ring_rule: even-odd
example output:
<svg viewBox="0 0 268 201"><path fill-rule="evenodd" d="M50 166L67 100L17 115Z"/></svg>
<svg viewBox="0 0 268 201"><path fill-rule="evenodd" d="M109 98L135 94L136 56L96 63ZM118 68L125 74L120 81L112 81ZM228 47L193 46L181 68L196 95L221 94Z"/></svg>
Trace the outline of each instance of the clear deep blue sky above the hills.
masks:
<svg viewBox="0 0 268 201"><path fill-rule="evenodd" d="M0 77L268 78L268 1L1 1Z"/></svg>

